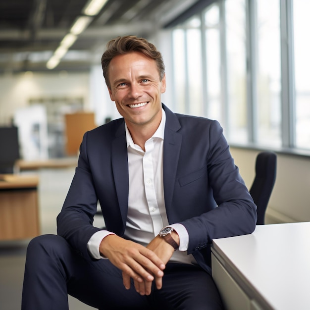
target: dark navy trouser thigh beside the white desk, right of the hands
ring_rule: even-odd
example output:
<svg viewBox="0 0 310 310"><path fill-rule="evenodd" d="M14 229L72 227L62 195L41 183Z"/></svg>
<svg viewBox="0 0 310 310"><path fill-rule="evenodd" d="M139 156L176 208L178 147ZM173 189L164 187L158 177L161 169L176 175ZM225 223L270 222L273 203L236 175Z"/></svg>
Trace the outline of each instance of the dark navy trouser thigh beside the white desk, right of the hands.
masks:
<svg viewBox="0 0 310 310"><path fill-rule="evenodd" d="M164 270L162 289L155 290L154 295L154 300L166 306L166 309L223 309L211 275L199 266L168 263Z"/></svg>

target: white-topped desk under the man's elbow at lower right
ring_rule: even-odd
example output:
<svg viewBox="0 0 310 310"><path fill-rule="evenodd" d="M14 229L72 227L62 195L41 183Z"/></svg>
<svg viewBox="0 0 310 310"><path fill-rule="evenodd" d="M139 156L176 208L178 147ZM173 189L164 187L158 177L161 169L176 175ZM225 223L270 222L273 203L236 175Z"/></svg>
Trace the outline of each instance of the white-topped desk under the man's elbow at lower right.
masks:
<svg viewBox="0 0 310 310"><path fill-rule="evenodd" d="M257 226L211 250L228 310L310 310L310 222Z"/></svg>

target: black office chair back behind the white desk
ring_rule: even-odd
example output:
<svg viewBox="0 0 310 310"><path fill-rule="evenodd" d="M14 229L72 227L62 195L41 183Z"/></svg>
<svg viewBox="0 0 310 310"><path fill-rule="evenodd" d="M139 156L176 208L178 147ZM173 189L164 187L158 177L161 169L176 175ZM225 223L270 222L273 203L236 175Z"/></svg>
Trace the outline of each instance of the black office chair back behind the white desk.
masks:
<svg viewBox="0 0 310 310"><path fill-rule="evenodd" d="M261 152L256 157L255 178L250 194L257 205L257 225L265 223L265 212L275 183L277 155L273 152Z"/></svg>

